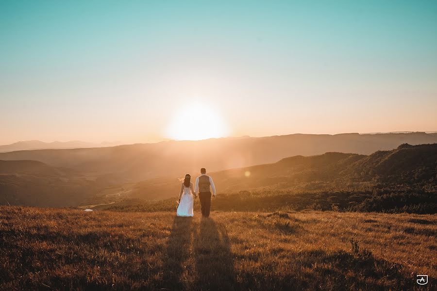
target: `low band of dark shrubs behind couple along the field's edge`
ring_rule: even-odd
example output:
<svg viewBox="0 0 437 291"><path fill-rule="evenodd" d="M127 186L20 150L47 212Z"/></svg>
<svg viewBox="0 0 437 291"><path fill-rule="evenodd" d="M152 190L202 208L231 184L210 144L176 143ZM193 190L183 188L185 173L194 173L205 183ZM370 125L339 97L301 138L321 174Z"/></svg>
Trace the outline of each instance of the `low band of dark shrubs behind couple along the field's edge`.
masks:
<svg viewBox="0 0 437 291"><path fill-rule="evenodd" d="M93 207L91 207L93 208ZM173 211L176 198L160 201L124 199L121 202L95 206L96 210L154 212ZM196 200L194 208L200 208ZM211 204L219 211L275 211L275 210L333 210L385 213L437 213L436 193L419 190L375 189L371 191L332 190L294 192L287 191L241 191L220 194Z"/></svg>

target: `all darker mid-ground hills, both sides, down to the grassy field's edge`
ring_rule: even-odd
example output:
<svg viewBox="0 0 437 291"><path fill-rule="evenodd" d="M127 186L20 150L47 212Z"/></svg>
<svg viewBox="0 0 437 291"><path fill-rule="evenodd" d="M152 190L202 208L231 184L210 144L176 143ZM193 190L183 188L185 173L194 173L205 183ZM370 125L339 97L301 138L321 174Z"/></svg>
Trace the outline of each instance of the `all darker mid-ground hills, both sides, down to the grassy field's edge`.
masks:
<svg viewBox="0 0 437 291"><path fill-rule="evenodd" d="M434 213L436 163L437 144L401 145L369 156L330 152L209 174L221 196L222 202L217 204L221 210L259 210L262 204L264 210L282 205L291 209L330 210L336 206L341 210ZM196 172L191 174L194 181ZM116 174L96 177L42 162L0 161L0 204L3 205L94 207L111 203L110 207L117 207L126 205L123 202L126 199L176 197L179 187L176 177L119 183ZM246 192L251 195L241 194ZM377 204L385 206L377 208L378 200L372 199L384 195L391 202L386 205L379 201ZM227 198L222 200L224 197ZM250 201L235 205L235 199ZM149 207L141 206L141 209Z"/></svg>

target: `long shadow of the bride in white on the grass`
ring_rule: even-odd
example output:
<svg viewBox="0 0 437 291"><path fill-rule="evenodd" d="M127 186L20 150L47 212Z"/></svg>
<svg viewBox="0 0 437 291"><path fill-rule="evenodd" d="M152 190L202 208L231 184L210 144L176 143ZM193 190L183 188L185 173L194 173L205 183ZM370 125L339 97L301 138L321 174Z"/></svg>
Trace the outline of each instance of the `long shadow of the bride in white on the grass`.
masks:
<svg viewBox="0 0 437 291"><path fill-rule="evenodd" d="M184 280L185 262L190 258L192 217L175 217L165 248L162 289L186 290L188 282ZM186 276L188 277L188 276Z"/></svg>

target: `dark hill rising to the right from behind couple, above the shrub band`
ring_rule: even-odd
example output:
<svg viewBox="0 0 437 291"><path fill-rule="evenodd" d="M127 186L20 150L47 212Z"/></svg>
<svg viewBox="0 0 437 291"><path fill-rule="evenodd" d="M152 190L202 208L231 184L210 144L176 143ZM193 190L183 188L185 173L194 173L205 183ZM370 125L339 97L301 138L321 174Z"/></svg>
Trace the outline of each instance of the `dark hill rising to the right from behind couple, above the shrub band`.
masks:
<svg viewBox="0 0 437 291"><path fill-rule="evenodd" d="M390 151L369 156L325 153L318 156L295 156L276 163L209 173L221 193L243 190L326 190L349 186L360 188L389 183L437 187L437 144L401 145ZM193 175L195 176L195 175ZM159 199L175 196L177 178L152 179L134 188L138 198Z"/></svg>

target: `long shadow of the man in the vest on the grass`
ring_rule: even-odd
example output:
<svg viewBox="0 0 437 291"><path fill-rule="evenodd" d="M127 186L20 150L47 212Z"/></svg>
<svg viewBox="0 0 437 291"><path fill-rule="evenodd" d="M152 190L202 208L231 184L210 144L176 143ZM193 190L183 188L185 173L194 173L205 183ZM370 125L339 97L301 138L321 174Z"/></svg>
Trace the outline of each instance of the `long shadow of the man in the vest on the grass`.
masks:
<svg viewBox="0 0 437 291"><path fill-rule="evenodd" d="M203 218L194 238L196 290L235 290L234 261L225 226Z"/></svg>

